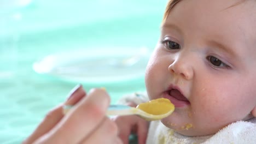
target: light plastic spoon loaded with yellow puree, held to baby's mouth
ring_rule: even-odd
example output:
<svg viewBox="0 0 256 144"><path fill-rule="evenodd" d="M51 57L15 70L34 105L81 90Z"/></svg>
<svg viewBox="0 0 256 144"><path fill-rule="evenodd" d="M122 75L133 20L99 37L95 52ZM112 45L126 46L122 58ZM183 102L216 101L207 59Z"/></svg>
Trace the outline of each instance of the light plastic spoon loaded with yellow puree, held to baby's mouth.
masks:
<svg viewBox="0 0 256 144"><path fill-rule="evenodd" d="M63 107L63 113L67 113L72 106ZM147 121L155 121L165 118L174 111L174 105L170 100L165 98L151 100L147 103L139 104L137 107L126 105L110 105L107 110L108 116L126 116L138 115Z"/></svg>

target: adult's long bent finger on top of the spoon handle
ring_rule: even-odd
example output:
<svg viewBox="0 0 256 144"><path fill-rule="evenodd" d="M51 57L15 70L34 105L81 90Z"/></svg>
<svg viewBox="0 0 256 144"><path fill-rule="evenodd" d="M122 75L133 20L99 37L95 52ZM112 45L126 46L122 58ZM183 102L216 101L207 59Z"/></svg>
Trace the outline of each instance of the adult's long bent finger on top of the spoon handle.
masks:
<svg viewBox="0 0 256 144"><path fill-rule="evenodd" d="M101 124L109 95L103 89L92 89L78 102L43 140L45 143L78 143Z"/></svg>

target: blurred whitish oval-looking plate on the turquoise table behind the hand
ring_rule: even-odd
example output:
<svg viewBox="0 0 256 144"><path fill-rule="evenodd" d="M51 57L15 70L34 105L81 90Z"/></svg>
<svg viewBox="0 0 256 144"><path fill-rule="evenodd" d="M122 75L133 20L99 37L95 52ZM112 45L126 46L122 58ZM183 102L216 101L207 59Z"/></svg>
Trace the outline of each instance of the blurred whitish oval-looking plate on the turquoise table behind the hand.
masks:
<svg viewBox="0 0 256 144"><path fill-rule="evenodd" d="M49 55L33 64L39 74L85 83L117 82L144 76L146 47L104 47Z"/></svg>

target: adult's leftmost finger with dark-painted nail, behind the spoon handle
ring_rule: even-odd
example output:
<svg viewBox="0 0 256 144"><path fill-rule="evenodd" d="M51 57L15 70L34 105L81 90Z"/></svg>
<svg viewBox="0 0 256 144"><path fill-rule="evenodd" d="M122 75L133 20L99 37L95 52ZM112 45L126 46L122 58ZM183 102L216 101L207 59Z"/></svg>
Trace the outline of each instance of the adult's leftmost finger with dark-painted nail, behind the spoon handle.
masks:
<svg viewBox="0 0 256 144"><path fill-rule="evenodd" d="M65 103L75 104L85 95L85 91L83 90L81 85L75 86L72 91L69 93L69 99ZM23 142L24 144L32 143L37 140L40 136L43 136L45 133L48 133L63 117L62 114L63 104L56 106L54 109L50 110L43 121L38 125L36 130L27 137L27 139Z"/></svg>

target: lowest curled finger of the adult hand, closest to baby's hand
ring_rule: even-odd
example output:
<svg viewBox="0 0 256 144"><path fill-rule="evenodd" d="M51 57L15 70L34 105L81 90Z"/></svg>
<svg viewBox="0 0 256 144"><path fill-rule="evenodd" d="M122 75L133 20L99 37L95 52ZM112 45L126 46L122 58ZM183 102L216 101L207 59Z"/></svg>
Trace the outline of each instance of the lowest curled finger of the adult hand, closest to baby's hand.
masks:
<svg viewBox="0 0 256 144"><path fill-rule="evenodd" d="M111 121L109 118L105 117L103 122L90 134L89 137L80 142L83 144L90 143L106 143L114 144L121 143L118 137L117 125Z"/></svg>

